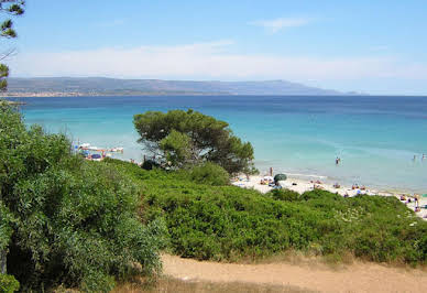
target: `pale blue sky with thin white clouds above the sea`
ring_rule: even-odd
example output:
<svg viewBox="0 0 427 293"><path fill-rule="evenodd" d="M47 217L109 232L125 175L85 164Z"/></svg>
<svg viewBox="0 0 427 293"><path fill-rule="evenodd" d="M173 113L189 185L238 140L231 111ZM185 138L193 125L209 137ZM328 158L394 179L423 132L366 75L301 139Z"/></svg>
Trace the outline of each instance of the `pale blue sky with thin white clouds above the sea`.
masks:
<svg viewBox="0 0 427 293"><path fill-rule="evenodd" d="M285 79L427 96L426 0L28 0L14 77ZM2 15L4 19L7 15Z"/></svg>

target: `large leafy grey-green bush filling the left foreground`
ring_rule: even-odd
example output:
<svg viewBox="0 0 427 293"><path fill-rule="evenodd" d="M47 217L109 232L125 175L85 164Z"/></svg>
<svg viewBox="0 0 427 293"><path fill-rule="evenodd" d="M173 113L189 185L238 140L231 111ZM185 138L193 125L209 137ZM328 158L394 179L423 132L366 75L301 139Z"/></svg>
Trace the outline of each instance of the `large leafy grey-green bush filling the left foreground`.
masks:
<svg viewBox="0 0 427 293"><path fill-rule="evenodd" d="M164 224L141 223L136 185L113 165L74 155L64 135L26 130L7 106L0 107L0 195L8 273L23 290L64 283L109 291L116 279L161 269Z"/></svg>

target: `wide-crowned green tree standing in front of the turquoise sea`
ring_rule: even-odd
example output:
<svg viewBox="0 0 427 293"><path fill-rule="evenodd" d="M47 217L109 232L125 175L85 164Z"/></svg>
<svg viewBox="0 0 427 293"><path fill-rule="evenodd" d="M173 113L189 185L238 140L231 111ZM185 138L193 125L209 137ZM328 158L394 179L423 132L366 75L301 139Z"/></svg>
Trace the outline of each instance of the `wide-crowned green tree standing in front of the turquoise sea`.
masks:
<svg viewBox="0 0 427 293"><path fill-rule="evenodd" d="M253 148L229 124L191 109L135 115L133 123L144 150L161 165L175 169L214 162L230 174L253 173Z"/></svg>

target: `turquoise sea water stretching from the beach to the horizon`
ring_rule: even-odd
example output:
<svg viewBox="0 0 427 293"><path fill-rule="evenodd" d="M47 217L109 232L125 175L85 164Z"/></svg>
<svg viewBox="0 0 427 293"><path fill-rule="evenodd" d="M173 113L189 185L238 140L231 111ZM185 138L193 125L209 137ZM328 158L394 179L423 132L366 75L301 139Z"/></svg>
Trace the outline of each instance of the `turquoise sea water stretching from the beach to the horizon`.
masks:
<svg viewBox="0 0 427 293"><path fill-rule="evenodd" d="M230 123L255 149L261 171L427 192L427 97L57 97L20 98L26 123L74 141L123 146L142 160L132 117L193 108ZM416 160L413 158L416 155ZM341 164L336 166L336 156Z"/></svg>

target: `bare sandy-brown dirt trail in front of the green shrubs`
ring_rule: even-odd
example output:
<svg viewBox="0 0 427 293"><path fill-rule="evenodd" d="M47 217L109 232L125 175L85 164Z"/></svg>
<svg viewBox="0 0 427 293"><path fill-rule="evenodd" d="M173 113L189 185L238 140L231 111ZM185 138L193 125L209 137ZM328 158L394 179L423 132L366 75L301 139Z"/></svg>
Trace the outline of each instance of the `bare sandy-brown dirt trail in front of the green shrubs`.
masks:
<svg viewBox="0 0 427 293"><path fill-rule="evenodd" d="M353 263L333 270L325 264L217 263L167 254L162 259L166 275L185 281L287 285L320 292L427 292L427 272L375 263Z"/></svg>

